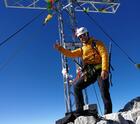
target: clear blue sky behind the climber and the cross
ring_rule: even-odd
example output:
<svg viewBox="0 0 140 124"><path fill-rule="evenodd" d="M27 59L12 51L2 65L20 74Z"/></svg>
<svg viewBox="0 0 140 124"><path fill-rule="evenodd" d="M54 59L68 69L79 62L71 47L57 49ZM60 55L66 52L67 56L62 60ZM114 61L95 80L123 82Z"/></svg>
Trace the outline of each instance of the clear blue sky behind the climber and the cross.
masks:
<svg viewBox="0 0 140 124"><path fill-rule="evenodd" d="M116 14L92 13L111 37L135 62L140 63L139 1L121 0ZM40 10L6 9L0 1L0 42L40 13ZM65 113L60 54L53 49L59 38L57 18L43 26L44 14L22 32L0 47L0 123L53 124ZM109 39L88 19L77 13L79 26L86 26L90 34ZM113 44L113 111L139 96L140 70ZM100 92L95 84L103 109ZM88 88L90 103L97 103L93 86Z"/></svg>

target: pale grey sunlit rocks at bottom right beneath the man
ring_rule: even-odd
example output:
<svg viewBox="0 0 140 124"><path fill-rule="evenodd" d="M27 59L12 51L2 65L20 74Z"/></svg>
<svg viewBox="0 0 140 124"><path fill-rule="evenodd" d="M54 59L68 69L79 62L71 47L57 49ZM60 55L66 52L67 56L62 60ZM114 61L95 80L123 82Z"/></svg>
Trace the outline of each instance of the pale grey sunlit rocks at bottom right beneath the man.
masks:
<svg viewBox="0 0 140 124"><path fill-rule="evenodd" d="M80 116L68 124L140 124L140 97L128 102L117 113L107 114L96 119L93 116Z"/></svg>

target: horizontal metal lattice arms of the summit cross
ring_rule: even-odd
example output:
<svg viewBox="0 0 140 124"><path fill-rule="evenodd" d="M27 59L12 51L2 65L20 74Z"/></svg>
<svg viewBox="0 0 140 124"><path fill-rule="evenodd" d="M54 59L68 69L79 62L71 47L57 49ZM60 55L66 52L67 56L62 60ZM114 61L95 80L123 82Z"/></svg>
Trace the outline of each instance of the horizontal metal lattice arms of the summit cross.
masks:
<svg viewBox="0 0 140 124"><path fill-rule="evenodd" d="M86 11L96 13L116 13L120 6L118 0L77 0L72 2L62 1L61 11L68 7L73 7L75 11ZM45 0L4 0L7 8L23 8L23 9L46 9L47 2Z"/></svg>

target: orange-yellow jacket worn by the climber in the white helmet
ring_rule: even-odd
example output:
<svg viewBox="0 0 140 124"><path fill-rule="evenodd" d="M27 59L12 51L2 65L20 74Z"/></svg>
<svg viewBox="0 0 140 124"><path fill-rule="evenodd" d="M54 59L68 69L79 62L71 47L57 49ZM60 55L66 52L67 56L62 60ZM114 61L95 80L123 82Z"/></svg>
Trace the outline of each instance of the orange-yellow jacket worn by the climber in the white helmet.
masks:
<svg viewBox="0 0 140 124"><path fill-rule="evenodd" d="M109 69L109 57L105 45L101 41L96 41L96 48L93 48L93 38L90 38L88 43L75 50L67 50L60 46L58 49L67 57L75 58L81 57L84 64L101 64L102 70L108 71Z"/></svg>

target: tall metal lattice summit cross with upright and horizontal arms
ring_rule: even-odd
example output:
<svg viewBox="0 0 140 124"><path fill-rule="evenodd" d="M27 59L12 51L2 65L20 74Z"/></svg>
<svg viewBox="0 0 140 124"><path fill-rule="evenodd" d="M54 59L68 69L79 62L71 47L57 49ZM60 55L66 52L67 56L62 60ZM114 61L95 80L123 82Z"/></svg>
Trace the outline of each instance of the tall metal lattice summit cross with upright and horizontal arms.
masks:
<svg viewBox="0 0 140 124"><path fill-rule="evenodd" d="M4 0L4 3L7 8L47 9L46 0ZM58 0L54 4L57 9L56 13L58 16L59 42L64 48L67 49L75 49L81 46L78 39L74 37L74 31L77 27L77 20L75 17L76 11L114 14L120 6L118 0ZM66 28L66 19L69 21L69 28ZM69 61L68 58L62 54L61 61L66 112L71 112L73 109L74 100L72 99L72 85L70 85L71 79L69 72ZM79 61L80 60L77 59L77 62ZM76 68L78 68L77 64ZM85 98L87 99L86 92ZM86 100L86 102L88 103L88 100Z"/></svg>

